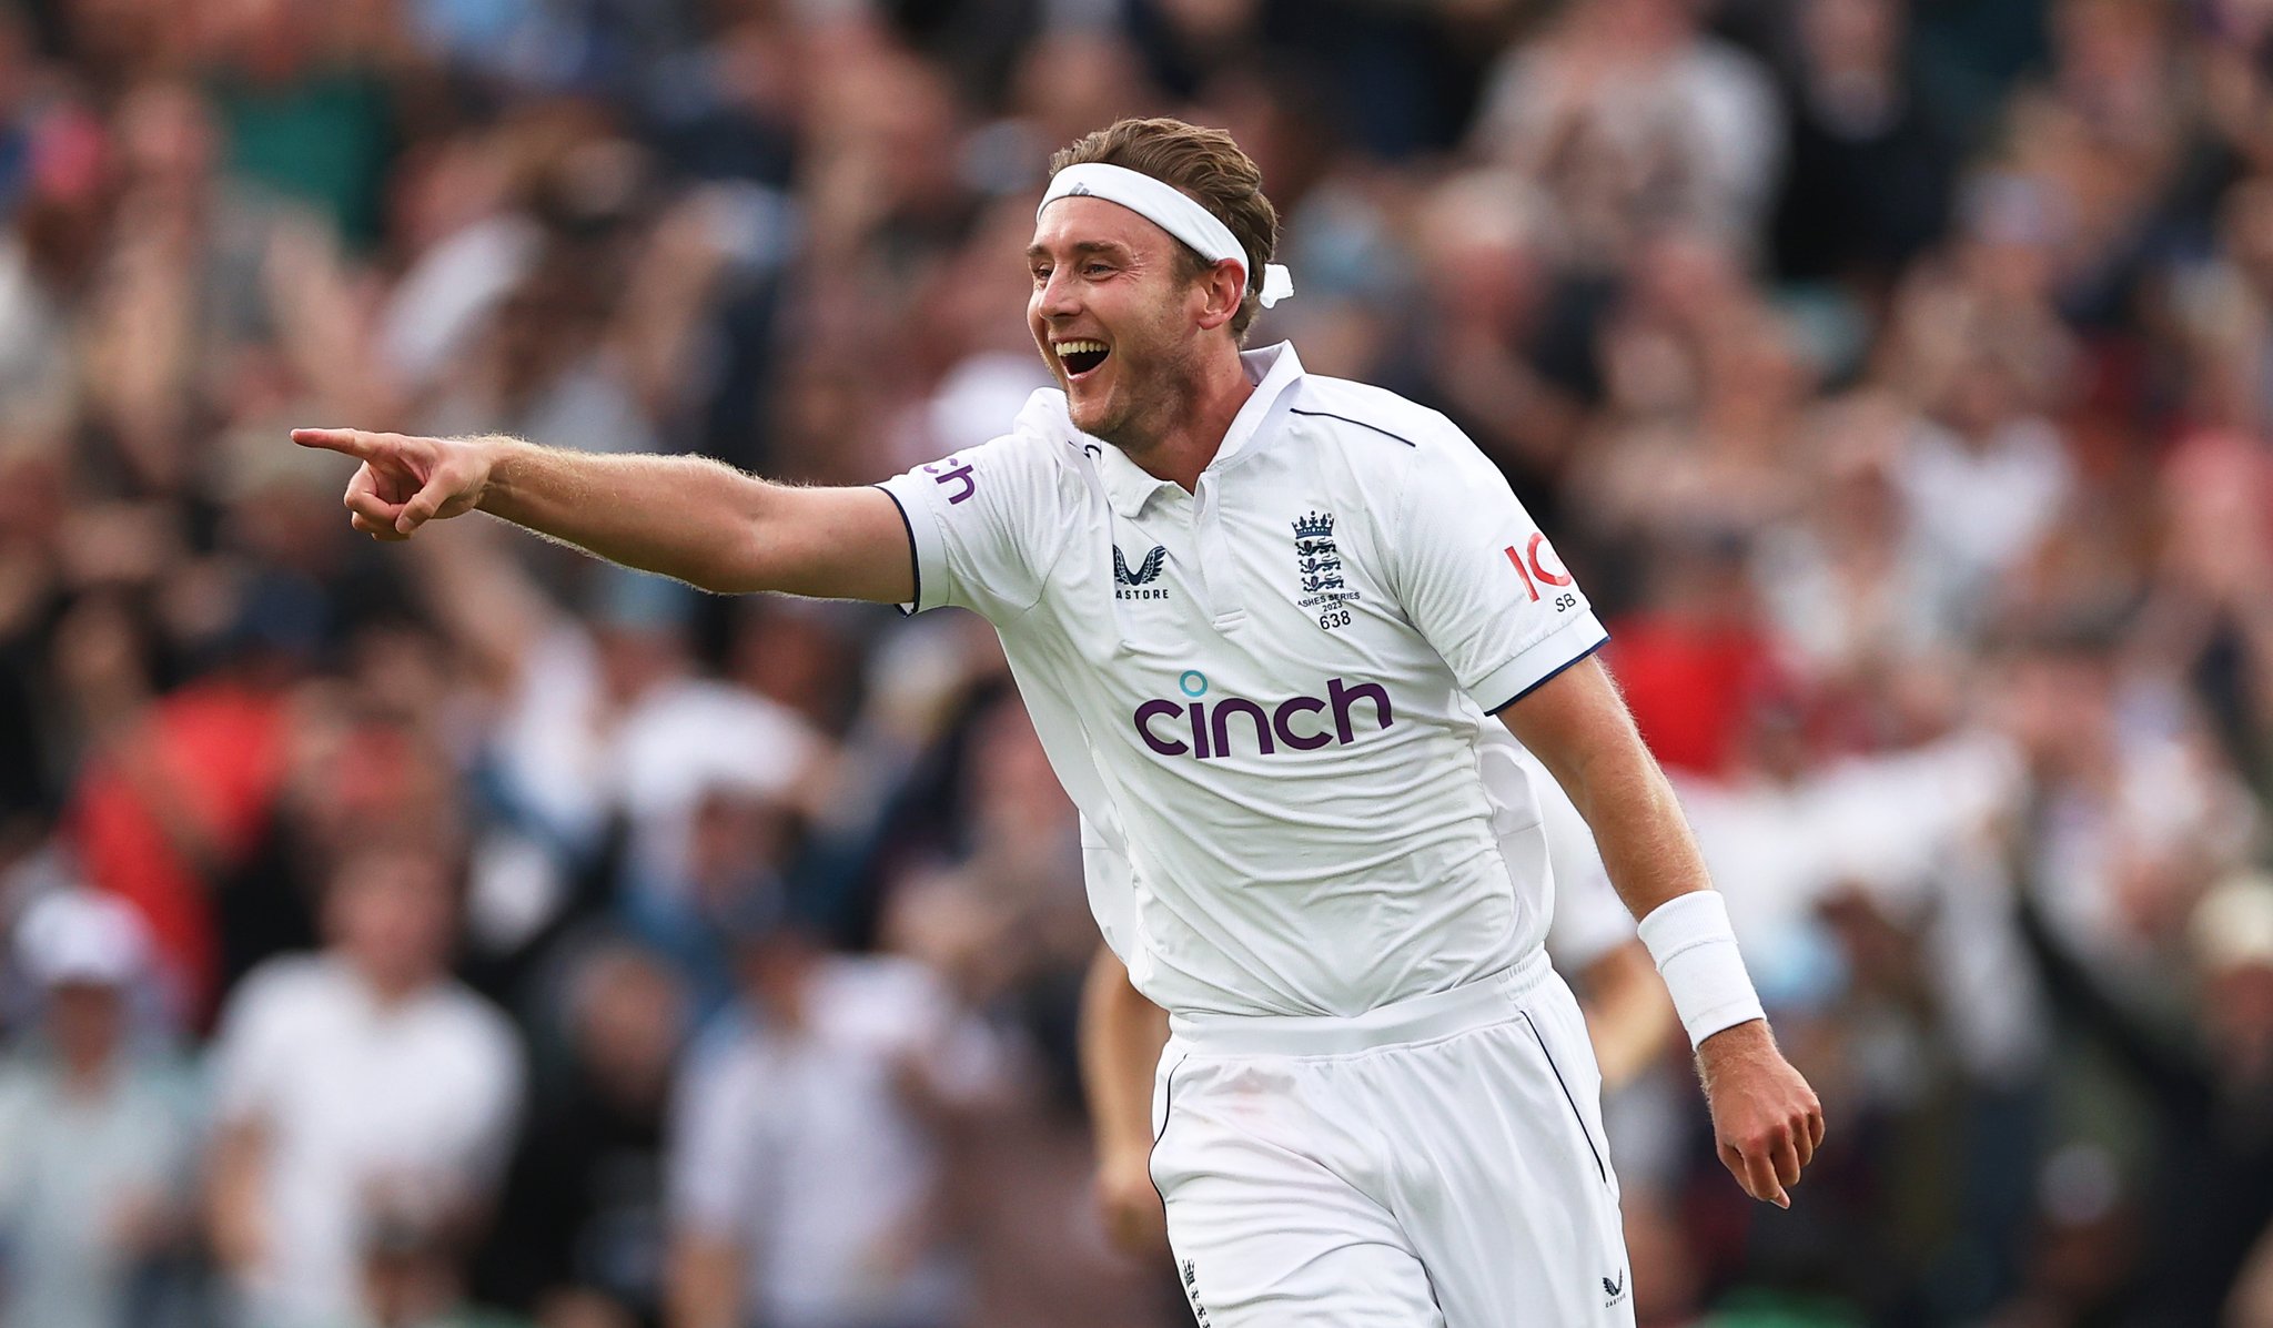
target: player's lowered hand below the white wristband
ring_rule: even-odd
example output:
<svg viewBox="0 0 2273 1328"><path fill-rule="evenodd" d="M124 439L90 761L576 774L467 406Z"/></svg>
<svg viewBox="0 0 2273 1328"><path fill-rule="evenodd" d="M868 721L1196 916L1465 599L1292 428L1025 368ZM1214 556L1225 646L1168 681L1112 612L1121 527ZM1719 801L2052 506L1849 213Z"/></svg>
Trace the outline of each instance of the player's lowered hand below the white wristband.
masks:
<svg viewBox="0 0 2273 1328"><path fill-rule="evenodd" d="M1791 1207L1789 1187L1823 1144L1823 1103L1775 1048L1764 1019L1714 1032L1698 1046L1705 1103L1721 1164L1746 1194Z"/></svg>

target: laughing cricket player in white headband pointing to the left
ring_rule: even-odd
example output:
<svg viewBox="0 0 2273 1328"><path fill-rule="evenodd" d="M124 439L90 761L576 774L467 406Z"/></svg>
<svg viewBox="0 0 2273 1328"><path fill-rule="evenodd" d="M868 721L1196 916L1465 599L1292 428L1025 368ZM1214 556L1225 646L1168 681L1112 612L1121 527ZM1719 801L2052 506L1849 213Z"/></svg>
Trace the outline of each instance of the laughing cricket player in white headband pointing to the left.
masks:
<svg viewBox="0 0 2273 1328"><path fill-rule="evenodd" d="M711 591L964 605L1002 637L1168 1010L1152 1178L1212 1328L1632 1323L1596 1069L1548 966L1530 780L1584 812L1673 994L1721 1160L1787 1189L1823 1112L1546 534L1441 414L1241 352L1291 282L1223 132L1121 121L1052 161L1027 323L1059 391L873 489L693 457L295 430L350 523L491 512ZM1498 725L1489 716L1498 719Z"/></svg>

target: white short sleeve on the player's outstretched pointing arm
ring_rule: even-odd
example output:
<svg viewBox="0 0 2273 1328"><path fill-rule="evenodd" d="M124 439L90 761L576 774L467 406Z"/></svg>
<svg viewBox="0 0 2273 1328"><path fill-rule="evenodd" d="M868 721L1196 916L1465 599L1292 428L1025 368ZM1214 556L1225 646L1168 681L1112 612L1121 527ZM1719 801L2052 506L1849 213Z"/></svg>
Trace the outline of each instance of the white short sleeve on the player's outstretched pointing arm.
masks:
<svg viewBox="0 0 2273 1328"><path fill-rule="evenodd" d="M1068 525L1057 446L1007 434L880 484L916 557L916 598L902 609L957 605L1000 623L1034 607Z"/></svg>

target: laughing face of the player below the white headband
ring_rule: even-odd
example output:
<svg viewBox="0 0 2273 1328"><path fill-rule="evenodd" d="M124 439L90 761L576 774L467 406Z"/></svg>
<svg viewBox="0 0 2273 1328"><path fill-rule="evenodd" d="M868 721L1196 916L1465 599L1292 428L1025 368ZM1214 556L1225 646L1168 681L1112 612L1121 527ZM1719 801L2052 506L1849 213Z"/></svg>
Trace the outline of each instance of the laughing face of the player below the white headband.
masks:
<svg viewBox="0 0 2273 1328"><path fill-rule="evenodd" d="M1025 321L1073 428L1123 448L1157 439L1198 382L1207 300L1175 236L1118 202L1061 198L1027 268Z"/></svg>

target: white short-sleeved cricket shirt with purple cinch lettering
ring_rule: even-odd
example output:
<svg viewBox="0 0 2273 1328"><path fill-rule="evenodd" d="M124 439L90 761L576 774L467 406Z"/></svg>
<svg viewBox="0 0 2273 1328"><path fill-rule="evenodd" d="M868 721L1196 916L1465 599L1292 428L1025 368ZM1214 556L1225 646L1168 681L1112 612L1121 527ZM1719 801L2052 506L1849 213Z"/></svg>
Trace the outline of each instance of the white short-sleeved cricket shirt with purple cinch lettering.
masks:
<svg viewBox="0 0 2273 1328"><path fill-rule="evenodd" d="M1448 418L1284 343L1241 362L1255 396L1189 493L1059 391L884 482L914 609L1002 634L1155 1003L1348 1016L1493 976L1550 885L1527 782L1487 789L1487 712L1607 634Z"/></svg>

